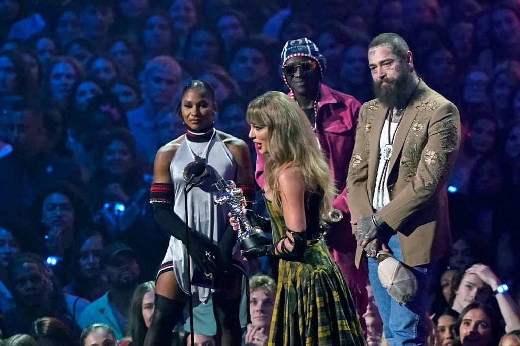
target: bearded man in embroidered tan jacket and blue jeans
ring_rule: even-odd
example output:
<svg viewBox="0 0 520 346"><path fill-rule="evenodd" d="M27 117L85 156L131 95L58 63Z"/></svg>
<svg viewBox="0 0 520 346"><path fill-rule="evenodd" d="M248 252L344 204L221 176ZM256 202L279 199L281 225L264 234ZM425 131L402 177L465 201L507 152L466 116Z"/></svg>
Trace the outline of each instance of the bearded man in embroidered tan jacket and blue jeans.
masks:
<svg viewBox="0 0 520 346"><path fill-rule="evenodd" d="M432 265L451 252L446 180L459 149L459 111L418 77L401 36L374 37L368 62L377 98L359 112L347 180L356 264L365 250L388 343L424 345ZM383 287L382 249L417 278L410 295L396 295L405 282L392 285L392 277Z"/></svg>

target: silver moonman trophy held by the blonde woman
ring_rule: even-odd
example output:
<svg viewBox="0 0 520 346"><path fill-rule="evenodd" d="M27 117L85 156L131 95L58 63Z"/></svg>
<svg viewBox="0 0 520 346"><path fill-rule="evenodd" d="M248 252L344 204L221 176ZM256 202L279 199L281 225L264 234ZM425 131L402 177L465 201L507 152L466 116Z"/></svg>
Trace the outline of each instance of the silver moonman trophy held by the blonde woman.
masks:
<svg viewBox="0 0 520 346"><path fill-rule="evenodd" d="M223 205L227 203L231 216L238 222L238 243L242 250L250 249L258 245L271 244L269 238L265 235L261 228L251 225L249 219L242 214L242 208L245 205L244 195L241 189L232 180L221 178L213 184L217 191L224 191L220 197L215 199L215 204Z"/></svg>

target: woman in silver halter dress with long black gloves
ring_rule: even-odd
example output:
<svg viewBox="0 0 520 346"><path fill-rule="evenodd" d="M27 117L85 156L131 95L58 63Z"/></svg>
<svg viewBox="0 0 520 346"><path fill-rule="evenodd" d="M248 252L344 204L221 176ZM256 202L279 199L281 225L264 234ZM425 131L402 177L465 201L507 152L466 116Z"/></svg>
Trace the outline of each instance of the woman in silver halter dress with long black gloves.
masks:
<svg viewBox="0 0 520 346"><path fill-rule="evenodd" d="M165 144L155 157L150 202L155 220L172 237L158 274L155 310L145 340L147 346L170 345L172 329L186 306L189 290L197 305L194 308L196 317L197 313L206 314L203 325L194 325L194 333L216 335L216 339L222 338L222 344L240 344L241 280L238 271L229 265L236 234L227 227L228 208L213 203L218 192L212 184L223 177L251 192L253 172L244 141L213 127L216 110L213 88L198 79L189 82L178 107L187 133ZM196 170L191 168L195 165L197 169L205 169L208 175L187 195L186 220L183 190L192 170L193 173ZM185 222L190 228L189 238ZM188 239L191 273L187 271L190 259L185 244ZM213 288L220 288L214 292L196 283L189 287L188 275L193 275L196 268L207 274L219 273L215 278L225 276L228 286L213 285ZM224 271L228 273L223 274Z"/></svg>

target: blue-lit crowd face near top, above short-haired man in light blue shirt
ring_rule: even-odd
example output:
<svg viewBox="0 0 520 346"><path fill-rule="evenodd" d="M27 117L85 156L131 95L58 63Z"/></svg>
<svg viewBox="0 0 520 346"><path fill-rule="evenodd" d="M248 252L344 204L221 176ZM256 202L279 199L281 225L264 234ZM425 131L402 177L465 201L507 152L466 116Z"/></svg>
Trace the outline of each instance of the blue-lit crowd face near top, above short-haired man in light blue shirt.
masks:
<svg viewBox="0 0 520 346"><path fill-rule="evenodd" d="M148 18L143 32L144 45L150 52L167 52L171 49L173 33L170 23L160 15Z"/></svg>

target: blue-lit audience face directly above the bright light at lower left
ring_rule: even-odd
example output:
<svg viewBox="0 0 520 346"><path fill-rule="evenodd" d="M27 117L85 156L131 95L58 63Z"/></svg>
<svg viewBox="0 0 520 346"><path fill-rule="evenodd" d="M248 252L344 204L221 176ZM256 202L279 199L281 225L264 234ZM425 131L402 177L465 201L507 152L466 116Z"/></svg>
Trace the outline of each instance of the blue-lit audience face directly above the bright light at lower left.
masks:
<svg viewBox="0 0 520 346"><path fill-rule="evenodd" d="M47 230L72 230L74 219L75 211L69 197L57 192L45 197L42 203L42 223Z"/></svg>

